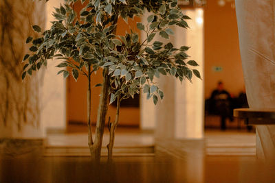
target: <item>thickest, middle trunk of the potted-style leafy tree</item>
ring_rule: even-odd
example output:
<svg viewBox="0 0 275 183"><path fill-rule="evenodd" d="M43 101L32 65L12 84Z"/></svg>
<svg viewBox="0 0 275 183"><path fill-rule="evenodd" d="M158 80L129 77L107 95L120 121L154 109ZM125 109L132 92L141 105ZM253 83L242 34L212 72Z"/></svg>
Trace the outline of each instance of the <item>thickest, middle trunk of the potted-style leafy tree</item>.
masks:
<svg viewBox="0 0 275 183"><path fill-rule="evenodd" d="M99 162L101 147L102 147L102 139L105 127L106 114L108 110L108 97L109 97L109 75L108 69L103 69L103 82L102 82L102 90L100 94L100 103L98 107L98 117L96 121L96 136L94 139L94 144L90 147L91 158L92 160Z"/></svg>

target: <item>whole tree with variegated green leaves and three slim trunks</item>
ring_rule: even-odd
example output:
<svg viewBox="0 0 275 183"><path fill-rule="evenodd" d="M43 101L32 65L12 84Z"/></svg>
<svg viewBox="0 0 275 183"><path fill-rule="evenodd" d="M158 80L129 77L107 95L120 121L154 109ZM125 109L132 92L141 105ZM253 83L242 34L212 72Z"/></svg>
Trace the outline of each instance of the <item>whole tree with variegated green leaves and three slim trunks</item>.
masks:
<svg viewBox="0 0 275 183"><path fill-rule="evenodd" d="M46 0L47 1L47 0ZM83 8L80 14L74 10L77 0L65 0L56 8L56 21L52 27L43 32L42 36L31 43L32 56L26 54L22 79L32 75L32 71L47 66L47 60L61 60L57 67L65 68L58 72L66 78L72 73L75 80L83 74L88 80L87 90L87 125L89 129L89 149L91 157L99 161L102 138L108 110L108 101L116 101L115 121L108 122L110 132L108 159L111 160L115 136L115 128L119 122L120 101L133 97L143 90L147 98L153 98L156 104L163 99L164 93L153 82L154 77L172 75L182 82L185 78L191 81L192 75L201 78L199 71L190 69L197 66L194 60L188 60L186 51L189 47L175 48L172 43L164 44L154 41L156 34L169 39L173 30L169 27L176 25L187 28L188 16L182 14L177 7L177 0L82 0ZM122 17L127 22L134 16L142 16L149 12L146 25L137 23L137 28L146 33L146 38L140 40L137 32L126 33L124 36L115 34L118 19ZM41 28L33 25L36 32ZM70 68L70 69L69 69ZM91 73L102 70L103 81L98 116L96 121L95 138L91 130ZM109 97L110 95L110 97Z"/></svg>

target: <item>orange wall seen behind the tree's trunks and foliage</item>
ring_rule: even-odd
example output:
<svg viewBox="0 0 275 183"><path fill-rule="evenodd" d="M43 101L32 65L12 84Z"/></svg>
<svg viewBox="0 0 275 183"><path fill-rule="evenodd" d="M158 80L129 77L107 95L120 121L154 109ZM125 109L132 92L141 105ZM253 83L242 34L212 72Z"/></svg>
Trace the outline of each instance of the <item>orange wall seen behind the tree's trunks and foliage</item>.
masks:
<svg viewBox="0 0 275 183"><path fill-rule="evenodd" d="M80 11L79 4L75 5L75 10ZM130 31L130 27L137 32L135 24L140 18L135 17L134 20L129 19L128 25L122 20L118 20L117 34L124 35L126 31ZM102 81L102 72L98 71L92 75L91 86ZM91 90L91 120L96 123L97 109L99 103L101 87L94 87ZM109 106L107 118L111 117L111 121L115 120L115 107ZM87 78L81 75L78 81L70 75L67 80L67 121L78 123L87 123ZM139 125L140 109L139 108L120 108L120 125Z"/></svg>

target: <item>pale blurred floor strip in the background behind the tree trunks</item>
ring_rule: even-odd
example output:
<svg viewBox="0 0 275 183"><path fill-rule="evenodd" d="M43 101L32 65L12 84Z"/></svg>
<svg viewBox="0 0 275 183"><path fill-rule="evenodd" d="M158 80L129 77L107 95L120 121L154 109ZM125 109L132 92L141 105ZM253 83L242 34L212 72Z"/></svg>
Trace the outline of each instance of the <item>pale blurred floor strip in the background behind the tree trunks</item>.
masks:
<svg viewBox="0 0 275 183"><path fill-rule="evenodd" d="M103 138L103 156L109 141L106 131ZM205 132L206 155L208 156L255 156L256 137L254 132L245 130L206 130ZM87 149L87 133L74 132L69 134L48 134L47 156L89 156ZM155 145L153 132L142 132L137 128L118 128L115 135L115 154L125 154L128 151L151 154ZM58 149L58 147L61 148ZM78 151L77 151L78 149ZM140 149L140 151L137 151ZM126 150L126 151L125 151ZM133 153L131 151L131 153Z"/></svg>

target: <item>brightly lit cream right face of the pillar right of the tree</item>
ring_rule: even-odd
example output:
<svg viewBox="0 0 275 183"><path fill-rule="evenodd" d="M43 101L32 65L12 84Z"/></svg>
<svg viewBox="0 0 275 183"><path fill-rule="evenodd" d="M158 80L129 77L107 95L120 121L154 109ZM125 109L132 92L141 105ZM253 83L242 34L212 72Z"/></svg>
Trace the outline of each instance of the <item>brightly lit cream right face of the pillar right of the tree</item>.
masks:
<svg viewBox="0 0 275 183"><path fill-rule="evenodd" d="M190 16L190 29L175 29L175 46L187 45L191 47L188 60L195 60L199 66L195 67L203 77L203 10L186 10L184 14ZM182 36L185 35L185 36ZM175 84L175 138L203 138L203 80L195 75L192 83L179 82Z"/></svg>

